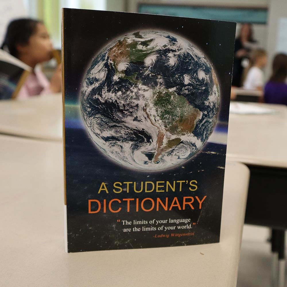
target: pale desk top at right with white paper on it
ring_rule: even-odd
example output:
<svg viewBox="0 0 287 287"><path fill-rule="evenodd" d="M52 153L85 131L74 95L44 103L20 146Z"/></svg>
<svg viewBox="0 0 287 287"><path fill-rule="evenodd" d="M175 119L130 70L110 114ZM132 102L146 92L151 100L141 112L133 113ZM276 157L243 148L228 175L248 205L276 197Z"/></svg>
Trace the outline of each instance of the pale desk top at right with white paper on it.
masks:
<svg viewBox="0 0 287 287"><path fill-rule="evenodd" d="M230 114L227 160L287 168L287 106L250 104L274 109L276 113Z"/></svg>

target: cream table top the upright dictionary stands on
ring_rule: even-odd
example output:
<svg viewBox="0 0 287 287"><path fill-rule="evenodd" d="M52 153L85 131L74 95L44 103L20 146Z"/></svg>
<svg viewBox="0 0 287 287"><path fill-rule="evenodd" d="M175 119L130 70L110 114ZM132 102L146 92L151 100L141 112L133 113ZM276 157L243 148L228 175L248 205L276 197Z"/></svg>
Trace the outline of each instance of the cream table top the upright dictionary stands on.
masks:
<svg viewBox="0 0 287 287"><path fill-rule="evenodd" d="M61 142L0 135L0 150L0 286L236 286L243 164L226 166L220 243L67 254Z"/></svg>

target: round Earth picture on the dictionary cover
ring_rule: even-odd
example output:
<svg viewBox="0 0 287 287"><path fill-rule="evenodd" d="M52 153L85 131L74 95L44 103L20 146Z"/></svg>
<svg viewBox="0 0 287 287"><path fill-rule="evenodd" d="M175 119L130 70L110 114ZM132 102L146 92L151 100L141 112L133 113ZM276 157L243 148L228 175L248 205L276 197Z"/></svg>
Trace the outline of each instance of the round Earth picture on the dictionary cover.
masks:
<svg viewBox="0 0 287 287"><path fill-rule="evenodd" d="M183 164L216 125L220 90L205 55L181 36L137 31L91 60L79 95L96 146L136 170Z"/></svg>

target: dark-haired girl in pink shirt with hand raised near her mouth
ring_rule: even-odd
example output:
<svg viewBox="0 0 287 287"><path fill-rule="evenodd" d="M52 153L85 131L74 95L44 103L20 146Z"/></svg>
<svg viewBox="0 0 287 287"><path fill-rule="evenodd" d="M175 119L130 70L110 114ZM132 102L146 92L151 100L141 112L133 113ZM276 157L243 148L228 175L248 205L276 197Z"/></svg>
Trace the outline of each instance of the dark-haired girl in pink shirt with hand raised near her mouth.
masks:
<svg viewBox="0 0 287 287"><path fill-rule="evenodd" d="M33 69L21 87L18 98L61 91L60 65L51 78L51 82L40 69L35 69L37 64L49 61L53 57L53 45L47 29L41 21L29 18L11 21L1 49L8 51Z"/></svg>

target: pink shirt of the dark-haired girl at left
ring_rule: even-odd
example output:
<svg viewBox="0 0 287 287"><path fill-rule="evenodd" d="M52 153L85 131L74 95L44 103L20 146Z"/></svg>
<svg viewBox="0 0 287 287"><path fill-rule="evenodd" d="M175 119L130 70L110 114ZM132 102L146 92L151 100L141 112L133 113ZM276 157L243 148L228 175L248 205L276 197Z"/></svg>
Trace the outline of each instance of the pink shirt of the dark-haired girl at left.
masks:
<svg viewBox="0 0 287 287"><path fill-rule="evenodd" d="M23 99L40 94L51 94L50 82L40 69L35 69L28 75L17 98Z"/></svg>

